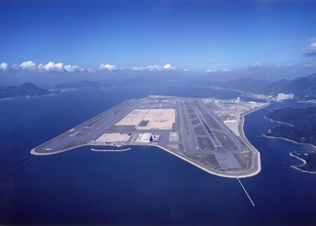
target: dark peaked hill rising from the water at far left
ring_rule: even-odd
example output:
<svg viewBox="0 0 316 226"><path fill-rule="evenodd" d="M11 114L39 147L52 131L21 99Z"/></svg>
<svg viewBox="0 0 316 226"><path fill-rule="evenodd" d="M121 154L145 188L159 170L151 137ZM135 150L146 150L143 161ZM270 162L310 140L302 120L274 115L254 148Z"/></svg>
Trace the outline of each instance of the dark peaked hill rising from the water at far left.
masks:
<svg viewBox="0 0 316 226"><path fill-rule="evenodd" d="M0 99L25 97L25 96L42 96L53 94L46 89L41 89L32 83L24 83L20 86L0 87Z"/></svg>

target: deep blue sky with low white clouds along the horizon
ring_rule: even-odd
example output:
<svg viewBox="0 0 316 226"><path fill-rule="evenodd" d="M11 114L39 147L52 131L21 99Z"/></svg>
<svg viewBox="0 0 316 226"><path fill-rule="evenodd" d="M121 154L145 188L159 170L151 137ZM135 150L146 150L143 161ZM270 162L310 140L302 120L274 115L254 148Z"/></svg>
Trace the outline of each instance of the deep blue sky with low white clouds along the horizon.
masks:
<svg viewBox="0 0 316 226"><path fill-rule="evenodd" d="M0 76L307 76L316 72L315 12L304 0L0 0Z"/></svg>

